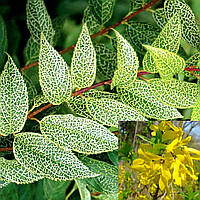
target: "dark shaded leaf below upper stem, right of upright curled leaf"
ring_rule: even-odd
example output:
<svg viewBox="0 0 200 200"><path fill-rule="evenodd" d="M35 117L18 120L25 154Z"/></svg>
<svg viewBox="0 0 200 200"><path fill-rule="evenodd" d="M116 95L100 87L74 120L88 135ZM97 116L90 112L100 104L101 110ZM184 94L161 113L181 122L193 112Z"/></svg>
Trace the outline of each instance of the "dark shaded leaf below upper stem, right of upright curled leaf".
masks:
<svg viewBox="0 0 200 200"><path fill-rule="evenodd" d="M145 22L129 20L126 26L127 40L141 54L145 54L146 51L142 44L151 45L159 32L160 29Z"/></svg>

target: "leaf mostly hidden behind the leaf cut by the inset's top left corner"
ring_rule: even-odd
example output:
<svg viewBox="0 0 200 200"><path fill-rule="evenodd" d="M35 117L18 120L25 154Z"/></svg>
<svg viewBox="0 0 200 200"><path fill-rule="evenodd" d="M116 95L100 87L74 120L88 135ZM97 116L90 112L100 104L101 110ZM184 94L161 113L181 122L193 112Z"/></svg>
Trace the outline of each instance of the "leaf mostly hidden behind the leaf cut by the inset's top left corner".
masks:
<svg viewBox="0 0 200 200"><path fill-rule="evenodd" d="M119 100L119 96L115 93L100 91L91 89L82 94L84 97L94 97L94 98L109 98ZM69 108L77 115L80 115L85 118L91 119L92 116L87 110L85 98L81 96L72 96L68 101L67 105Z"/></svg>

